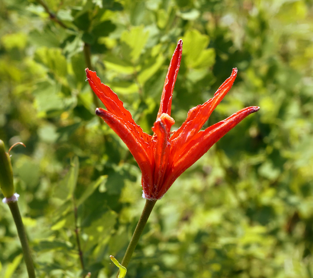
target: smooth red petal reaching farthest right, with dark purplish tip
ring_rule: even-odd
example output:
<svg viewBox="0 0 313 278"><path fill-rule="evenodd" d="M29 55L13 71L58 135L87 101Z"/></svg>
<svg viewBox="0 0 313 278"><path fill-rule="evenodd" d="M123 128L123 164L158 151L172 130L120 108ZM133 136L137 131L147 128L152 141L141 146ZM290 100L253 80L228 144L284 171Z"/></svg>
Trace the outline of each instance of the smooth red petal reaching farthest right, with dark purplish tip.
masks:
<svg viewBox="0 0 313 278"><path fill-rule="evenodd" d="M198 132L189 142L182 145L179 153L172 153L171 157L175 157L167 179L164 181L166 190L172 185L177 177L187 168L194 164L208 149L212 147L219 139L221 139L229 130L235 127L241 120L249 114L259 110L258 106L250 106L239 110L227 119L213 124L207 129Z"/></svg>

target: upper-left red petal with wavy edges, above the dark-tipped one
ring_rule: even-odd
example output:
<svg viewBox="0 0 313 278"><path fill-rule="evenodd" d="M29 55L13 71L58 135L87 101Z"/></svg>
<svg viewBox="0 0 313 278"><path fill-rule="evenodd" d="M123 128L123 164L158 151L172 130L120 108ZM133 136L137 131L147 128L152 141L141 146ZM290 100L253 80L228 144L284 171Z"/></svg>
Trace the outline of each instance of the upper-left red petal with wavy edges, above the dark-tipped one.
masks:
<svg viewBox="0 0 313 278"><path fill-rule="evenodd" d="M131 113L124 108L123 102L118 98L109 86L101 83L97 73L86 68L87 79L90 87L98 96L98 98L105 105L106 109L116 117L120 118L127 127L133 132L137 140L143 145L144 142L151 140L151 135L143 132L140 126L138 126L133 120Z"/></svg>

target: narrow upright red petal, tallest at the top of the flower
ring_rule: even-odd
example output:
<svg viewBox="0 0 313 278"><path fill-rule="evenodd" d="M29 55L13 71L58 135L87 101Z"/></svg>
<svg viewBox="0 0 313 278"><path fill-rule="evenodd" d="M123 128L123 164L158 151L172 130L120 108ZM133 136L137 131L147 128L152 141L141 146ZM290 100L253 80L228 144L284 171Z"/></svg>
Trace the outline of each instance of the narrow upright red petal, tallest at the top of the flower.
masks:
<svg viewBox="0 0 313 278"><path fill-rule="evenodd" d="M177 43L177 47L173 53L170 66L168 67L161 97L160 109L157 114L157 118L161 117L162 113L171 115L173 89L176 82L181 59L182 59L182 40L179 40Z"/></svg>

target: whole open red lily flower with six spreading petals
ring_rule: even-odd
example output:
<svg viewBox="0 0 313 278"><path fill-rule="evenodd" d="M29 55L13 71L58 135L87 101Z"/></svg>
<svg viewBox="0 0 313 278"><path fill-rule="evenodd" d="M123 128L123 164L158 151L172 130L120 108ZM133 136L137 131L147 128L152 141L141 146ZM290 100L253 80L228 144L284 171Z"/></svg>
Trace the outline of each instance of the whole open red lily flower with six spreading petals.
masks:
<svg viewBox="0 0 313 278"><path fill-rule="evenodd" d="M175 123L171 115L172 93L182 58L182 40L178 41L172 56L163 87L160 109L149 135L135 123L123 102L95 72L86 68L90 87L107 110L97 108L100 116L124 141L141 169L143 198L161 199L177 177L194 164L211 146L249 114L259 110L258 106L246 107L227 119L200 131L213 110L233 85L237 68L218 88L212 99L189 110L186 121L171 132ZM172 135L172 136L171 136Z"/></svg>

